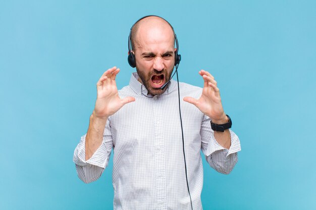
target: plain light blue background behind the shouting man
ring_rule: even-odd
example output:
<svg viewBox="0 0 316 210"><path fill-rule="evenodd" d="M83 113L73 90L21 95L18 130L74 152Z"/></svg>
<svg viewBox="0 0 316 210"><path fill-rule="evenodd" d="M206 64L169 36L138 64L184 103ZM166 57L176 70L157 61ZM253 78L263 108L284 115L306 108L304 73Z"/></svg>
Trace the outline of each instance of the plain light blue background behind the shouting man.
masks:
<svg viewBox="0 0 316 210"><path fill-rule="evenodd" d="M230 175L203 160L204 209L316 209L316 1L0 1L0 209L113 209L112 158L84 184L72 156L148 14L174 26L180 81L215 76L242 143Z"/></svg>

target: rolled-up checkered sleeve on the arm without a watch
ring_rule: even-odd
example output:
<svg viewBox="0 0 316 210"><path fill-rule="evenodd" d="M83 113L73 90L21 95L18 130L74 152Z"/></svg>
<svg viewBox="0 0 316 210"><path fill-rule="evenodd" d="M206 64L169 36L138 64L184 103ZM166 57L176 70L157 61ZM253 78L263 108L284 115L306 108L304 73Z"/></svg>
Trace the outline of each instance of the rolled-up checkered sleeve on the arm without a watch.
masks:
<svg viewBox="0 0 316 210"><path fill-rule="evenodd" d="M104 128L102 144L89 160L85 160L85 137L86 134L81 137L75 149L73 161L76 164L78 177L83 182L90 183L97 180L109 164L113 148L110 120Z"/></svg>

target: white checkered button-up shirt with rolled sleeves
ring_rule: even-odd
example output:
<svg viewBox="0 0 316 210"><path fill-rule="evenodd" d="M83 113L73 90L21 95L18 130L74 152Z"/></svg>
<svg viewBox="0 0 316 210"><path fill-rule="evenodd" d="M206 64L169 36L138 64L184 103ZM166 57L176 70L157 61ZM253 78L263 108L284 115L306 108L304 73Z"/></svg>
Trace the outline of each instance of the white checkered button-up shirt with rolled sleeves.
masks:
<svg viewBox="0 0 316 210"><path fill-rule="evenodd" d="M121 98L136 101L110 116L103 142L85 161L85 135L74 152L79 178L97 180L107 167L113 149L114 209L191 209L182 148L178 87L172 80L162 95L147 95L133 73L129 86L119 91ZM210 119L185 96L199 98L202 89L180 83L181 114L189 189L194 210L202 209L203 168L200 150L208 164L228 174L237 163L240 142L230 130L231 147L220 146L210 128Z"/></svg>

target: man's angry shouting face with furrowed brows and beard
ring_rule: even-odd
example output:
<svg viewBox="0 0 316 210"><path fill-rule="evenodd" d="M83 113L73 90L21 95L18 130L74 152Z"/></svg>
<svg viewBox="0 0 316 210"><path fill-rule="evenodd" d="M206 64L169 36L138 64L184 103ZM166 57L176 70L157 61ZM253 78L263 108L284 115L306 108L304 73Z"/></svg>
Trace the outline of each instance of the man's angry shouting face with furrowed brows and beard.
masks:
<svg viewBox="0 0 316 210"><path fill-rule="evenodd" d="M162 94L160 89L170 80L174 64L174 34L172 29L140 28L135 47L136 70L150 95Z"/></svg>

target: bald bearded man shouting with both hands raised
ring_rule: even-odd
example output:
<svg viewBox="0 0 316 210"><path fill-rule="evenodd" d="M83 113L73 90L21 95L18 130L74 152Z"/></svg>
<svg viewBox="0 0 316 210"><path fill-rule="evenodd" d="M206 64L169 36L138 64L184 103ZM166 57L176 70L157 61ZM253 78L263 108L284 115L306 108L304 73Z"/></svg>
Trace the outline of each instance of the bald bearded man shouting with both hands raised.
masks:
<svg viewBox="0 0 316 210"><path fill-rule="evenodd" d="M200 150L224 174L237 162L236 134L211 129L211 120L225 125L230 121L212 75L199 72L203 89L180 83L181 113L177 83L171 80L161 88L175 66L175 38L166 20L140 19L131 31L137 74L129 86L117 90L117 67L104 72L96 84L95 107L74 162L80 179L92 182L107 167L113 149L115 209L202 209Z"/></svg>

